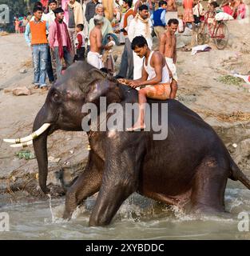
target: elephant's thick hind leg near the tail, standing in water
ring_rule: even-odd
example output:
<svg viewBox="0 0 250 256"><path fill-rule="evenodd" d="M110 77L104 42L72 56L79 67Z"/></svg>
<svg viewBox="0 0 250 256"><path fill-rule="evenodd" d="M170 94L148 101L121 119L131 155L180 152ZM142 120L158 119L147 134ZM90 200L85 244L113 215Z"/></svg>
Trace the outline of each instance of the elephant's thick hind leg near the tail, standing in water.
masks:
<svg viewBox="0 0 250 256"><path fill-rule="evenodd" d="M198 167L192 186L191 211L213 214L224 212L224 190L228 171L216 162L205 162Z"/></svg>

